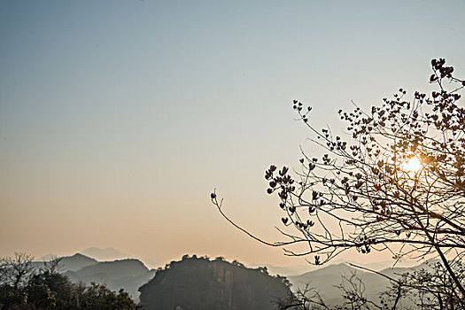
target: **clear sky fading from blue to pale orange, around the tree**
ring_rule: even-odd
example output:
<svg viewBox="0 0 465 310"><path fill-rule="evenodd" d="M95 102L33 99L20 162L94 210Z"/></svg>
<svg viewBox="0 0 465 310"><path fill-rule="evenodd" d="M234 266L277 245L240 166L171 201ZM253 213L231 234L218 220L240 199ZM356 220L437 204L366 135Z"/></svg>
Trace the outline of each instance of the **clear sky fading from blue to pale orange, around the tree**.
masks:
<svg viewBox="0 0 465 310"><path fill-rule="evenodd" d="M264 171L318 152L292 100L342 130L352 100L429 89L431 58L465 76L464 37L465 1L2 1L0 256L305 263L210 192L283 239Z"/></svg>

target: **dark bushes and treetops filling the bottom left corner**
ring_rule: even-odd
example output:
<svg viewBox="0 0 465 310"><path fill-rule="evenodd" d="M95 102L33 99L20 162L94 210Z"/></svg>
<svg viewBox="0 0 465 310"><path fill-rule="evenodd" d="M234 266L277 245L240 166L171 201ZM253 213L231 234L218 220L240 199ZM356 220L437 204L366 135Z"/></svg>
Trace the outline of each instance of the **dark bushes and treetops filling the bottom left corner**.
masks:
<svg viewBox="0 0 465 310"><path fill-rule="evenodd" d="M135 310L139 307L124 290L103 284L72 283L58 272L59 260L36 268L32 257L18 253L0 261L0 309Z"/></svg>

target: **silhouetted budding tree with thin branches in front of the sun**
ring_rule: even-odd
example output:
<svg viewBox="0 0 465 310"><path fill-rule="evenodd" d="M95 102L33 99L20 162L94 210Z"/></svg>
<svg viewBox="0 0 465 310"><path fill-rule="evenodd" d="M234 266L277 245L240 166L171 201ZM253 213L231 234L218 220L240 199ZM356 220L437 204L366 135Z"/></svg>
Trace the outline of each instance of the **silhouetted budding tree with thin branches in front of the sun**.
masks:
<svg viewBox="0 0 465 310"><path fill-rule="evenodd" d="M349 135L314 128L311 107L294 100L324 154L302 151L293 172L274 165L266 171L267 193L277 194L283 225L295 229L282 230L290 240L267 243L249 235L274 246L306 244L305 252L286 253L312 254L315 265L348 249L387 251L394 260L438 257L463 307L457 266L465 255L465 109L458 92L465 81L445 59L433 59L431 67L430 83L438 89L430 95L415 91L408 101L399 89L368 112L339 111ZM230 221L215 192L211 198Z"/></svg>

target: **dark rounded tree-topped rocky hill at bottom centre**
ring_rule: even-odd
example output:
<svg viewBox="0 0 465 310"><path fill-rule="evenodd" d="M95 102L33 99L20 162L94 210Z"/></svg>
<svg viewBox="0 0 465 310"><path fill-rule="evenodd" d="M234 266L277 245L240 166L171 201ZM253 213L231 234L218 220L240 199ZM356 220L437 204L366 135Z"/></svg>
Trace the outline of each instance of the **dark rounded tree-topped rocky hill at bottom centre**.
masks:
<svg viewBox="0 0 465 310"><path fill-rule="evenodd" d="M283 279L268 275L266 268L195 256L171 262L139 291L147 310L267 310L291 294Z"/></svg>

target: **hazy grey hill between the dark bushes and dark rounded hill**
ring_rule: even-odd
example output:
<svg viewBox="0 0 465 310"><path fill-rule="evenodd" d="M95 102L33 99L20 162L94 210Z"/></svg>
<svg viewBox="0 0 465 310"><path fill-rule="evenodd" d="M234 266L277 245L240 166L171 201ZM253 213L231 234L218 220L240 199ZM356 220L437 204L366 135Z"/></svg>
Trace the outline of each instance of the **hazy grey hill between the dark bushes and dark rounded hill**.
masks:
<svg viewBox="0 0 465 310"><path fill-rule="evenodd" d="M105 283L112 291L124 289L137 300L137 289L155 275L155 270L149 270L140 260L114 260L67 271L65 275L74 283Z"/></svg>

